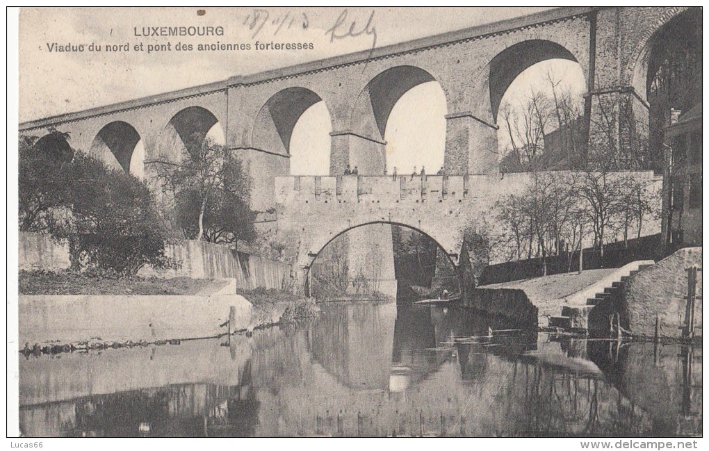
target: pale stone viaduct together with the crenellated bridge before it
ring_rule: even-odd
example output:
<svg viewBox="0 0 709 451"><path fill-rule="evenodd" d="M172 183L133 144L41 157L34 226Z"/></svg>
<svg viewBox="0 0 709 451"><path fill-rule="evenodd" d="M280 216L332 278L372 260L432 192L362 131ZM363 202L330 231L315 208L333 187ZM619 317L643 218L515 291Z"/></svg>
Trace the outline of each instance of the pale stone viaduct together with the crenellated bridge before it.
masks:
<svg viewBox="0 0 709 451"><path fill-rule="evenodd" d="M279 233L298 235L298 262L309 265L333 236L369 222L401 223L435 238L457 254L460 225L452 216L484 211L510 184L501 180L498 107L518 74L544 60L578 62L586 78L586 118L608 108L630 108L647 118L650 53L659 31L687 8L569 7L476 26L327 60L43 118L20 124L24 135L52 143L50 127L70 135L69 145L129 170L139 140L145 161L177 155L184 141L219 123L230 150L247 161L254 180L253 208L279 204ZM700 12L699 12L700 13ZM444 169L448 177L381 177L384 130L396 101L435 80L447 102ZM324 101L330 113L330 175L346 165L372 177L289 178L289 144L298 118ZM605 106L605 111L601 111ZM620 115L618 115L620 116ZM590 127L590 139L597 130ZM623 124L617 137L623 140ZM140 162L139 162L140 163ZM149 174L149 172L145 172ZM374 177L380 176L380 177ZM518 176L525 177L524 175ZM415 184L415 186L412 186ZM313 202L306 197L312 194ZM318 200L315 202L315 200ZM327 208L352 205L345 218ZM413 204L412 204L413 202ZM299 213L321 215L308 228ZM356 204L356 206L355 206ZM292 214L290 214L292 213Z"/></svg>

